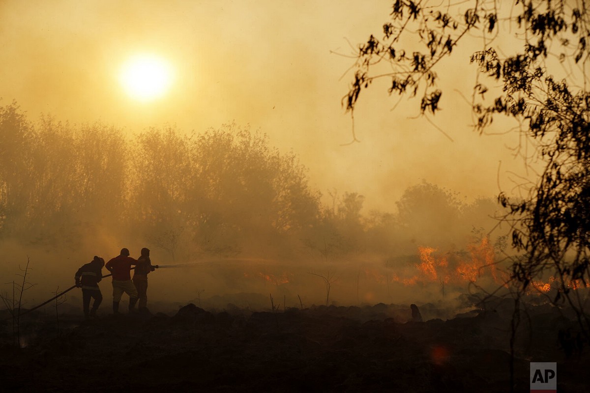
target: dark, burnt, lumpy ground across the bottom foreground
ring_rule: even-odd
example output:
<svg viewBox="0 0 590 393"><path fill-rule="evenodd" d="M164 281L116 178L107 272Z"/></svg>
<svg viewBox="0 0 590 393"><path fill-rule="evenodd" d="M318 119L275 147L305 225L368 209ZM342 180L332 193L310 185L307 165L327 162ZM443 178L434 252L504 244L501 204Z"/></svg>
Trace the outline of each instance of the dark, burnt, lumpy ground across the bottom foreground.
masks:
<svg viewBox="0 0 590 393"><path fill-rule="evenodd" d="M558 362L559 392L588 391L589 351L563 314L549 305L521 314L514 391L529 392L530 361ZM189 304L90 321L64 314L59 332L55 315L30 313L21 321L24 348L11 344L5 316L0 381L8 392L510 391L510 302L426 322L409 322L409 306L399 305L253 312Z"/></svg>

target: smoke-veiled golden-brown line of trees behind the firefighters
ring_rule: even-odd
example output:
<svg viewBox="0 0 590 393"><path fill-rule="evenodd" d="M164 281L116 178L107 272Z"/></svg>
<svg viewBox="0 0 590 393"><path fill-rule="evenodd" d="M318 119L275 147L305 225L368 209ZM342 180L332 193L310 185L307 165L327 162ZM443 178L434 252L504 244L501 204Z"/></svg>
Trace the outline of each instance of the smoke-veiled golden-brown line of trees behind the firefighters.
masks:
<svg viewBox="0 0 590 393"><path fill-rule="evenodd" d="M31 121L17 103L0 107L2 239L76 247L110 233L173 259L263 253L336 262L461 247L474 227L494 224L491 200L467 204L427 182L392 202L394 213L363 212L357 192L328 194L331 203L322 203L297 155L249 127L131 135L102 123Z"/></svg>

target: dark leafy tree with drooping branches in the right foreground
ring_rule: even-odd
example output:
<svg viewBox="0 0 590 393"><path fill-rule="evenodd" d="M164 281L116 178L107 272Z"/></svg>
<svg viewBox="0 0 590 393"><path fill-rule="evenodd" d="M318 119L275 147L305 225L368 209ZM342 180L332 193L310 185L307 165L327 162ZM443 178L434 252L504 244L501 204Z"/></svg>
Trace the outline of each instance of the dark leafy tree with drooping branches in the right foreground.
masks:
<svg viewBox="0 0 590 393"><path fill-rule="evenodd" d="M474 129L483 133L501 115L506 130L515 126L522 133L516 153L527 163L538 158L542 164L538 178L523 185L527 191L522 199L499 197L509 212L505 219L513 226L513 246L526 253L513 263L513 278L524 291L533 279L555 276L561 285L558 298L565 296L578 312L590 338L584 299L571 292L576 282L586 285L590 274L586 2L393 1L381 34L359 45L343 105L352 113L361 91L387 78L390 94L418 96L419 110L428 118L442 102L437 74L441 60L476 40L481 49L470 61L478 73L467 94ZM536 157L526 153L527 144L532 144Z"/></svg>

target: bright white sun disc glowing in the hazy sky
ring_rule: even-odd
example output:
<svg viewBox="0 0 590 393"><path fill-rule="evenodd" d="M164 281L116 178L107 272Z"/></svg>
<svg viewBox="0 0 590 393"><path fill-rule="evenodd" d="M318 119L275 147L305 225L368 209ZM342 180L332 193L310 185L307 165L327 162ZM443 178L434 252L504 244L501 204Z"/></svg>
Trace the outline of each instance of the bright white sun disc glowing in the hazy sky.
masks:
<svg viewBox="0 0 590 393"><path fill-rule="evenodd" d="M132 98L152 101L170 88L172 67L155 55L136 55L123 64L119 79Z"/></svg>

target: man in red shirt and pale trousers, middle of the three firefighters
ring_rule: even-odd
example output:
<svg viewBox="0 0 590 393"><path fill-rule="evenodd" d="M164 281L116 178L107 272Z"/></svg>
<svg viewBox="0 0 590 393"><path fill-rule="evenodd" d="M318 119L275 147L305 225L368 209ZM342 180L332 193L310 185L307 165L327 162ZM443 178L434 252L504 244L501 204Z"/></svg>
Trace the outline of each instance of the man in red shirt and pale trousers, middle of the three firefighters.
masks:
<svg viewBox="0 0 590 393"><path fill-rule="evenodd" d="M129 295L129 312L135 309L137 303L137 289L131 280L131 266L137 260L129 256L129 250L121 249L121 254L109 260L104 267L113 274L113 313L119 313L119 302L123 292Z"/></svg>

